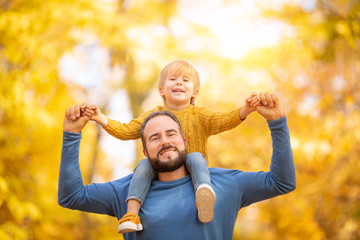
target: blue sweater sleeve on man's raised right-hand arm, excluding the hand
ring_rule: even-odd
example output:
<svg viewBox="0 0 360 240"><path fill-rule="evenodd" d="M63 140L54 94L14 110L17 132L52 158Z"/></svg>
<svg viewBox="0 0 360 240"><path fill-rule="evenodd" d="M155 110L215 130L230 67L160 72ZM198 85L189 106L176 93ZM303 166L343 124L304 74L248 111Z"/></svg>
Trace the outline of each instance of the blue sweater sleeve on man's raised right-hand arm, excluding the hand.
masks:
<svg viewBox="0 0 360 240"><path fill-rule="evenodd" d="M296 188L295 165L286 116L268 121L268 126L273 146L270 171L237 174L240 207L289 193Z"/></svg>

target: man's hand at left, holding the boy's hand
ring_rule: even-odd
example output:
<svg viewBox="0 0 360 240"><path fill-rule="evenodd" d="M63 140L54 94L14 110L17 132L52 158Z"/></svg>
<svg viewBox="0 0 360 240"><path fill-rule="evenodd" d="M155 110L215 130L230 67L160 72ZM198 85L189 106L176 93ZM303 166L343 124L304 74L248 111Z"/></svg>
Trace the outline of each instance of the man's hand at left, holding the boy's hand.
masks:
<svg viewBox="0 0 360 240"><path fill-rule="evenodd" d="M80 133L85 127L91 116L82 115L80 105L74 105L66 109L63 123L64 131Z"/></svg>

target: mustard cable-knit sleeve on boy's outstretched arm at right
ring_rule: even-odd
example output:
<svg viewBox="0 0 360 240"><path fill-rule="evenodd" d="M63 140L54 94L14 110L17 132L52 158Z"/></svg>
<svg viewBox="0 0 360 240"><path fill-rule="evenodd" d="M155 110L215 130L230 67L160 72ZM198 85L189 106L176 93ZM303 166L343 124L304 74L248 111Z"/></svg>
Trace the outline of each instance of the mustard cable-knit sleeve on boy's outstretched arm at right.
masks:
<svg viewBox="0 0 360 240"><path fill-rule="evenodd" d="M228 131L242 122L240 108L230 112L213 112L202 107L199 109L198 118L207 136Z"/></svg>

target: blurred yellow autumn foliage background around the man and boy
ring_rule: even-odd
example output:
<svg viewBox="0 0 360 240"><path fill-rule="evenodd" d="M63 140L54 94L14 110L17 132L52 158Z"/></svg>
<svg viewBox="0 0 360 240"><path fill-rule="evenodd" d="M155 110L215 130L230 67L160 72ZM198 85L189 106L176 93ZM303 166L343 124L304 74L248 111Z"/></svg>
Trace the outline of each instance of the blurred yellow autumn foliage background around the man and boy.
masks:
<svg viewBox="0 0 360 240"><path fill-rule="evenodd" d="M198 106L252 91L286 108L297 189L239 212L234 239L360 239L359 0L0 0L0 239L122 239L117 220L57 203L62 122L89 102L127 122L162 104L160 70L189 61ZM212 167L267 171L257 114L209 139ZM84 181L132 172L140 141L94 123Z"/></svg>

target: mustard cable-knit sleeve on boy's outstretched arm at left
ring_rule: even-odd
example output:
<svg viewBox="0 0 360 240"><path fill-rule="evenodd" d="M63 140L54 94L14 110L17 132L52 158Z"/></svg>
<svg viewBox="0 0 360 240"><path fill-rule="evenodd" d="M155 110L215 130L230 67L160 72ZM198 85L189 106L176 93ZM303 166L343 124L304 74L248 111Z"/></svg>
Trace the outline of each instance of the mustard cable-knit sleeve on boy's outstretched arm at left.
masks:
<svg viewBox="0 0 360 240"><path fill-rule="evenodd" d="M140 138L140 128L144 119L154 111L158 111L159 108L155 108L148 112L145 112L140 115L140 117L131 120L129 123L121 123L119 121L108 119L109 124L105 128L105 131L108 132L113 137L116 137L120 140L134 140Z"/></svg>

